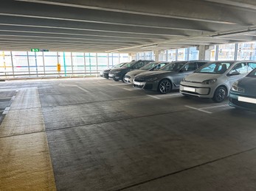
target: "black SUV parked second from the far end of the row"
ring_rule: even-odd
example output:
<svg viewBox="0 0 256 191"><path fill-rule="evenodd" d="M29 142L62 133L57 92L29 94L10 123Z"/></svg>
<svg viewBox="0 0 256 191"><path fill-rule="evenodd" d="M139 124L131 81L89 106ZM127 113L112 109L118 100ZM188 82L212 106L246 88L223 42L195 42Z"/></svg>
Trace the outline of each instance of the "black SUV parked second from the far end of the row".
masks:
<svg viewBox="0 0 256 191"><path fill-rule="evenodd" d="M149 62L154 62L153 60L138 60L131 61L123 65L122 68L114 68L108 73L109 79L114 79L114 81L119 81L120 79L124 82L125 74L129 71L134 71L136 69L142 68L142 66L148 64Z"/></svg>

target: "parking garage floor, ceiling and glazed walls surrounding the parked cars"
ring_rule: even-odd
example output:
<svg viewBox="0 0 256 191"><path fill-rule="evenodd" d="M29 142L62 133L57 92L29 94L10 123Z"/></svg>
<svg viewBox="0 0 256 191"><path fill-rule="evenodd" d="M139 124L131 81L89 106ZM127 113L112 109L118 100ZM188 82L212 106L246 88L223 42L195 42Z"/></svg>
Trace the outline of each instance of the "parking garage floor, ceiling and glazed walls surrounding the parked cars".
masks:
<svg viewBox="0 0 256 191"><path fill-rule="evenodd" d="M256 60L255 13L252 0L2 1L0 190L256 190L254 111L99 75Z"/></svg>

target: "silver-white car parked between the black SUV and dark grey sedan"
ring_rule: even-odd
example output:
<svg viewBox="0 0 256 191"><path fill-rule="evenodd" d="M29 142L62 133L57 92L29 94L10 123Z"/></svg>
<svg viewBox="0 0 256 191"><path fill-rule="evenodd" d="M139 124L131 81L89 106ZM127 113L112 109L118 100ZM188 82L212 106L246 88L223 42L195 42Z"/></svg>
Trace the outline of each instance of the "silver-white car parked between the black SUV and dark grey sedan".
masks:
<svg viewBox="0 0 256 191"><path fill-rule="evenodd" d="M139 73L143 73L146 71L157 71L165 65L170 64L170 62L150 62L148 65L139 68L139 70L130 71L125 74L124 82L128 84L132 84L134 82L134 77Z"/></svg>

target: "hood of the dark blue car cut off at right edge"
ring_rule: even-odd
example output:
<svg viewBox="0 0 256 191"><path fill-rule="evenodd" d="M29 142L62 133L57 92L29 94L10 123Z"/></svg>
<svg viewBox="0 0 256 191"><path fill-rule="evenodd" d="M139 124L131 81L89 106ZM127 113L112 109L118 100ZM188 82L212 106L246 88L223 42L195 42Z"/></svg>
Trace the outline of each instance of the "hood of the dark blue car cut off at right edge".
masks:
<svg viewBox="0 0 256 191"><path fill-rule="evenodd" d="M256 78L244 77L238 81L238 87L244 89L244 93L256 97Z"/></svg>

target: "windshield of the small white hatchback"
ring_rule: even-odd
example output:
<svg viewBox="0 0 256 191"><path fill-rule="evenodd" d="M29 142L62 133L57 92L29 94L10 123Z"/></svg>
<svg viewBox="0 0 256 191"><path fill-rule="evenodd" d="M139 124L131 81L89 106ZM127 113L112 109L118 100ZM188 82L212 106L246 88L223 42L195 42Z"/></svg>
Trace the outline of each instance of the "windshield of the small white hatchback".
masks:
<svg viewBox="0 0 256 191"><path fill-rule="evenodd" d="M196 73L224 73L234 62L210 62L201 68Z"/></svg>

